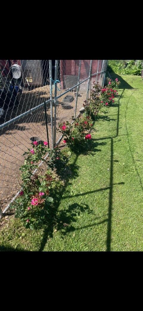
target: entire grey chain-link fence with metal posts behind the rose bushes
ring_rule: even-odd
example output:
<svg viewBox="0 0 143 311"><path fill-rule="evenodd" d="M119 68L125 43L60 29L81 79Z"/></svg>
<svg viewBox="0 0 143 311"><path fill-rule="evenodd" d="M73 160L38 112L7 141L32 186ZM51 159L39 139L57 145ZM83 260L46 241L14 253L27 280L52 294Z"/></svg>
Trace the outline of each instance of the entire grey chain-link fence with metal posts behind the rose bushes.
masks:
<svg viewBox="0 0 143 311"><path fill-rule="evenodd" d="M24 151L34 140L47 141L47 130L50 148L60 141L58 123L72 122L72 117L80 113L93 81L104 84L106 67L107 60L0 60L0 209L3 212L19 189Z"/></svg>

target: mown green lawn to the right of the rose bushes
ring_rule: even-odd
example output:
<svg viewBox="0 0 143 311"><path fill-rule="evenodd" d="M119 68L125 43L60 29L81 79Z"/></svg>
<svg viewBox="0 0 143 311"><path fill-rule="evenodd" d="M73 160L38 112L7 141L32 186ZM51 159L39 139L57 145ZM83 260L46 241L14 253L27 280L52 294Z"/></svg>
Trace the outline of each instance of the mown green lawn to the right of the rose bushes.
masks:
<svg viewBox="0 0 143 311"><path fill-rule="evenodd" d="M49 225L31 231L11 219L1 250L143 251L143 81L112 77L120 96L95 122L89 151L72 155Z"/></svg>

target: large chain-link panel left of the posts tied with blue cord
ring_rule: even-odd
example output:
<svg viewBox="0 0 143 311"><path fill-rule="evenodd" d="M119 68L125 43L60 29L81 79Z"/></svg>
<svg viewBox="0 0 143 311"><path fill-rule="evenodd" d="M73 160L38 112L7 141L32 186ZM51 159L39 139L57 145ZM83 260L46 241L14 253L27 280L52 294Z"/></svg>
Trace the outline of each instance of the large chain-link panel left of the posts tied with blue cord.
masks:
<svg viewBox="0 0 143 311"><path fill-rule="evenodd" d="M51 132L49 81L49 61L0 60L1 205L19 189L19 167L30 139L47 141L44 100Z"/></svg>

